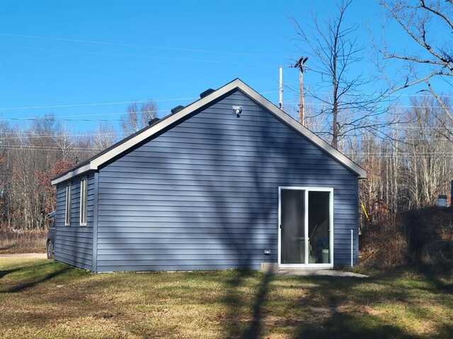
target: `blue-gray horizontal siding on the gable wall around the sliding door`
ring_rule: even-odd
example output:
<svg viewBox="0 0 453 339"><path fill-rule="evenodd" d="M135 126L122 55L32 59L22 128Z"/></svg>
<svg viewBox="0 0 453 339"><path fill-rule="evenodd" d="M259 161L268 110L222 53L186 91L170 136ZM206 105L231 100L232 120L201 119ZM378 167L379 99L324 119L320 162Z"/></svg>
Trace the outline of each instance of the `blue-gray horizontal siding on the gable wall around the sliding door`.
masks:
<svg viewBox="0 0 453 339"><path fill-rule="evenodd" d="M348 264L357 176L238 91L100 169L97 269L277 262L278 186L333 187L335 263Z"/></svg>

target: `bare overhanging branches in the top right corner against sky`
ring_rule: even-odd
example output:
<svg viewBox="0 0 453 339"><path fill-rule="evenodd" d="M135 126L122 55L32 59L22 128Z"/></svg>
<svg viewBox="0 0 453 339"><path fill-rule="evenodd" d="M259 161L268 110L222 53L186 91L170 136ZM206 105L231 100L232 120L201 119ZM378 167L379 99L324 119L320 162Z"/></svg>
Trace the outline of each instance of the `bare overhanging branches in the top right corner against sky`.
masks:
<svg viewBox="0 0 453 339"><path fill-rule="evenodd" d="M398 78L389 79L391 89L397 92L403 88L423 85L423 90L431 93L447 117L453 120L450 107L435 90L436 81L448 82L453 76L453 1L388 0L382 1L381 5L415 46L414 52L407 52L405 49L389 51L386 42L378 47L384 59L394 61L392 69L404 69L404 73L398 72Z"/></svg>

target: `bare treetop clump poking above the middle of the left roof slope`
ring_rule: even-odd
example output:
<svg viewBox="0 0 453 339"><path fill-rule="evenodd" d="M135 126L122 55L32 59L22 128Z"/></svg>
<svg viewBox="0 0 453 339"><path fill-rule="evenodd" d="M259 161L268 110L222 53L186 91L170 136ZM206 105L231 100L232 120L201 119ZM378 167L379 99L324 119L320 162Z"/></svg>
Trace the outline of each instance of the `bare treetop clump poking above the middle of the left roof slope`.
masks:
<svg viewBox="0 0 453 339"><path fill-rule="evenodd" d="M157 106L154 101L147 101L138 105L137 102L127 106L126 113L121 117L121 129L129 136L144 127L157 116Z"/></svg>

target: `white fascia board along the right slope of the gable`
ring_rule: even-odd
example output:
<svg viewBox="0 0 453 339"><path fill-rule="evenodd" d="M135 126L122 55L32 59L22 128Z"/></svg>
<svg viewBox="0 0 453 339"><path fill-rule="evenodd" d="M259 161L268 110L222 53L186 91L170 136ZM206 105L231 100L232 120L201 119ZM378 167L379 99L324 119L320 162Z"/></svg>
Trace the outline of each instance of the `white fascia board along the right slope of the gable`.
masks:
<svg viewBox="0 0 453 339"><path fill-rule="evenodd" d="M239 88L244 93L246 93L246 95L248 95L253 100L258 102L258 104L269 109L270 112L273 112L273 114L275 114L279 119L281 119L282 121L285 121L287 124L289 124L289 126L292 126L292 128L299 131L299 133L302 133L302 135L304 135L306 138L308 138L312 143L317 145L319 148L325 150L328 154L330 154L336 160L338 160L343 165L345 165L346 167L351 169L353 172L357 173L357 175L359 176L359 179L365 179L367 177L367 172L365 171L365 169L363 169L362 167L357 165L355 162L350 160L349 157L346 157L345 155L343 155L343 153L339 152L338 150L333 148L331 145L326 143L326 141L323 141L321 138L319 138L319 136L316 136L316 134L309 131L309 129L306 129L304 126L299 124L299 122L292 119L292 117L289 117L288 114L283 112L277 106L273 105L272 102L267 100L265 97L261 96L255 90L248 87L248 85L241 82L241 85L239 85Z"/></svg>

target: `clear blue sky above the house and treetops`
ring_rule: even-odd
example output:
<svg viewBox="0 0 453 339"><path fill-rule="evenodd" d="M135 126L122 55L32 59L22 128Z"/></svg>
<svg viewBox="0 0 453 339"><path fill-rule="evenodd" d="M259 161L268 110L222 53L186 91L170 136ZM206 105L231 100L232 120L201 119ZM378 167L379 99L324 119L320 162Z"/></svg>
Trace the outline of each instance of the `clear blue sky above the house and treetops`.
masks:
<svg viewBox="0 0 453 339"><path fill-rule="evenodd" d="M87 131L98 120L117 124L127 102L156 100L164 116L234 78L277 103L279 66L285 66L285 105L297 104L289 90L297 88L297 70L287 66L303 46L288 17L305 25L311 13L322 22L335 9L333 1L308 0L2 0L0 118L14 124L9 118L53 113ZM367 0L347 13L366 52L367 30L377 32L382 12ZM395 30L389 39L403 37ZM357 71L372 66L362 63ZM305 81L316 78L307 72ZM104 105L113 102L120 103Z"/></svg>

